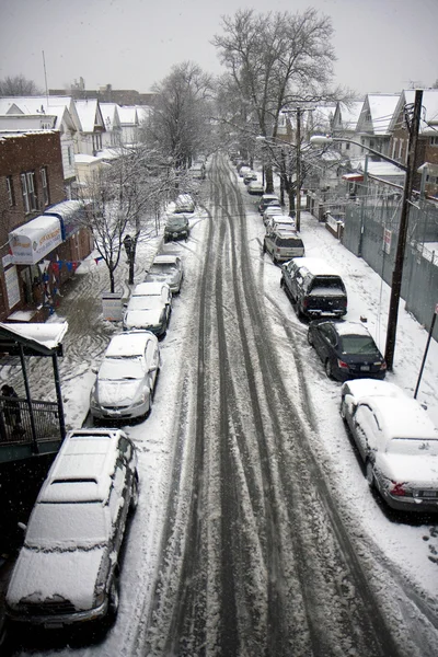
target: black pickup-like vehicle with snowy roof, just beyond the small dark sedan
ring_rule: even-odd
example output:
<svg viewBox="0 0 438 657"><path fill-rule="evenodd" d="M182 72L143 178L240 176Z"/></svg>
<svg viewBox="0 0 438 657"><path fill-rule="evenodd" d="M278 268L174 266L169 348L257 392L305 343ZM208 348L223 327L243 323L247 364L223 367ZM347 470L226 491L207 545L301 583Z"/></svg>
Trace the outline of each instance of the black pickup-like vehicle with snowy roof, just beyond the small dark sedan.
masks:
<svg viewBox="0 0 438 657"><path fill-rule="evenodd" d="M344 281L322 260L293 257L281 267L280 286L295 304L298 316L341 318L347 312Z"/></svg>

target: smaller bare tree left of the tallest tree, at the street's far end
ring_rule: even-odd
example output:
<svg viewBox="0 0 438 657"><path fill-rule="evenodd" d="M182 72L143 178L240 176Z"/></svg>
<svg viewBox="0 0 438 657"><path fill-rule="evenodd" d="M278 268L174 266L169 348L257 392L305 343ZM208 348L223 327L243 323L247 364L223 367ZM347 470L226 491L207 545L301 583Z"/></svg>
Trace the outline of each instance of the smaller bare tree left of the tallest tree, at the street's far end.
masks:
<svg viewBox="0 0 438 657"><path fill-rule="evenodd" d="M174 66L153 91L152 112L146 120L143 139L165 152L176 169L187 168L206 145L212 80L193 62Z"/></svg>

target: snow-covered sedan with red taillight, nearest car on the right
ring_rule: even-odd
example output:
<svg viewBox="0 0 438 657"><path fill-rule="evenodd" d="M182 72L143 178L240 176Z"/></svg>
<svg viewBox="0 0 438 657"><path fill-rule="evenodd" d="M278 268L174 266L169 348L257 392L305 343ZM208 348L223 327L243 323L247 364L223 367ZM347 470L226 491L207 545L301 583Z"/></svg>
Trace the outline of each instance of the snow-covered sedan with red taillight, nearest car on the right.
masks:
<svg viewBox="0 0 438 657"><path fill-rule="evenodd" d="M438 511L438 430L417 400L369 379L341 388L341 415L371 487L405 511Z"/></svg>

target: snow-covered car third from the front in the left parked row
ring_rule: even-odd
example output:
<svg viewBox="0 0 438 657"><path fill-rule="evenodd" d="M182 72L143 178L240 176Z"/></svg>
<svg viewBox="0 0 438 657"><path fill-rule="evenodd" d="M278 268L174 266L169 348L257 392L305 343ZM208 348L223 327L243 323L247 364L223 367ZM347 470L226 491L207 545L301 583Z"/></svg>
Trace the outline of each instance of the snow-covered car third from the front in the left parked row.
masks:
<svg viewBox="0 0 438 657"><path fill-rule="evenodd" d="M140 328L164 336L172 312L172 292L166 283L136 285L126 308L124 331Z"/></svg>

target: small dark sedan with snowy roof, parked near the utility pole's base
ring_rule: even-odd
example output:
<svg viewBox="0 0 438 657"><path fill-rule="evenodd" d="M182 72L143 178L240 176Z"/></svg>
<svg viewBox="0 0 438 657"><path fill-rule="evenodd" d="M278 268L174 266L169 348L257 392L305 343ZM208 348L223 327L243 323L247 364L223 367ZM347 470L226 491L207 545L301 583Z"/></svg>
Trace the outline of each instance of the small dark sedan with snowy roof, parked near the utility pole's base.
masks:
<svg viewBox="0 0 438 657"><path fill-rule="evenodd" d="M309 324L308 341L328 378L346 381L387 374L385 360L364 324L315 320Z"/></svg>

